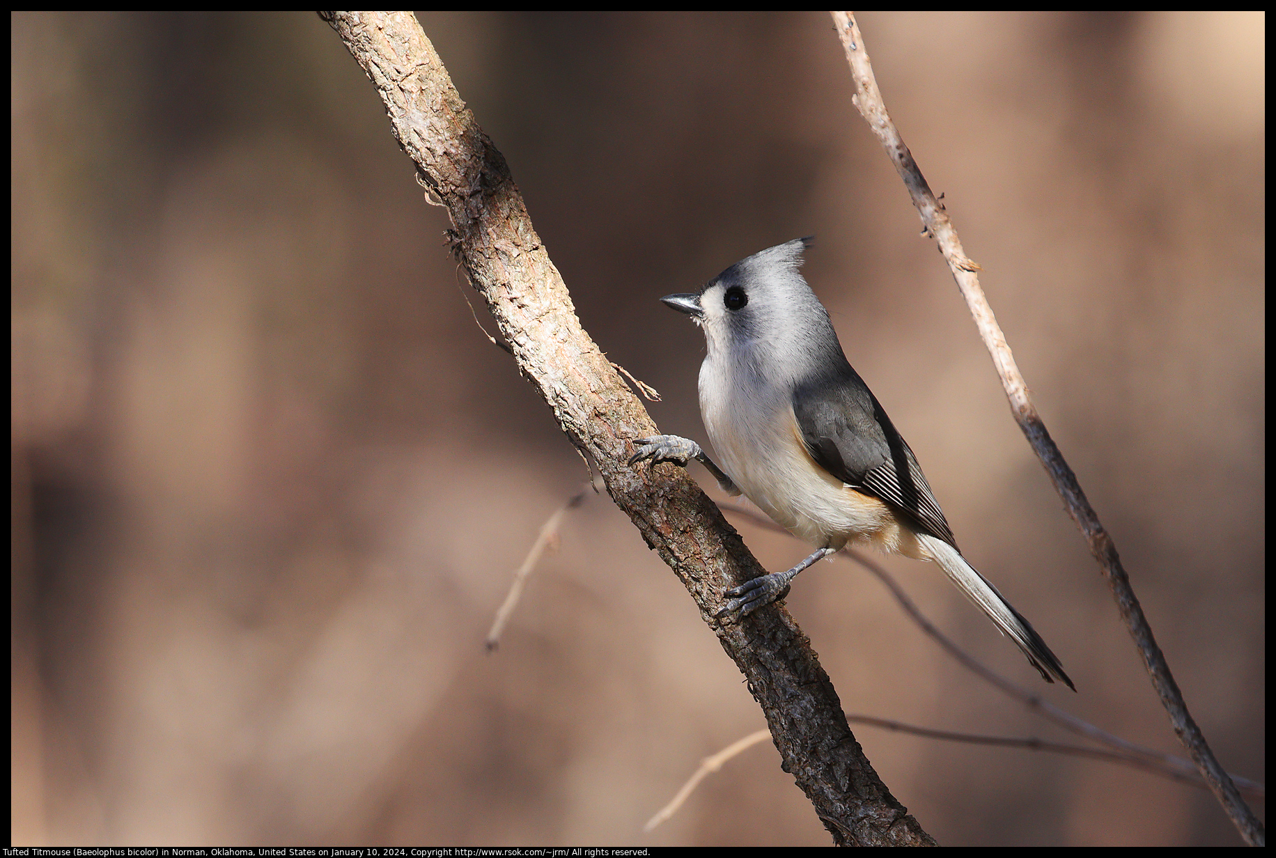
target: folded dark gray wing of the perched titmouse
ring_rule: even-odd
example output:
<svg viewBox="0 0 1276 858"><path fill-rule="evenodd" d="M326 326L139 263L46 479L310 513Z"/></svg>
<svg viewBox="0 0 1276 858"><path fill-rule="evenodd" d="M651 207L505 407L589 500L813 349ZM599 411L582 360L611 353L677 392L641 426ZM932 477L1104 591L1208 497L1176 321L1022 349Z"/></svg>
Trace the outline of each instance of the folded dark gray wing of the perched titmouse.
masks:
<svg viewBox="0 0 1276 858"><path fill-rule="evenodd" d="M924 532L957 548L917 457L850 364L799 384L794 416L815 463L903 511Z"/></svg>

